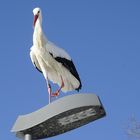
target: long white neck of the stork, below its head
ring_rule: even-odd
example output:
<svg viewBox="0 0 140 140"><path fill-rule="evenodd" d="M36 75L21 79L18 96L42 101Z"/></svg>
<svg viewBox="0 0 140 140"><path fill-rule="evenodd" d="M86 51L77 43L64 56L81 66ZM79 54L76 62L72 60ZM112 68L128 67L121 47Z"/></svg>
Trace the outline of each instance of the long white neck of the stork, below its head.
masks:
<svg viewBox="0 0 140 140"><path fill-rule="evenodd" d="M33 33L33 45L37 47L44 47L47 43L47 39L42 31L42 21L39 17L36 21Z"/></svg>

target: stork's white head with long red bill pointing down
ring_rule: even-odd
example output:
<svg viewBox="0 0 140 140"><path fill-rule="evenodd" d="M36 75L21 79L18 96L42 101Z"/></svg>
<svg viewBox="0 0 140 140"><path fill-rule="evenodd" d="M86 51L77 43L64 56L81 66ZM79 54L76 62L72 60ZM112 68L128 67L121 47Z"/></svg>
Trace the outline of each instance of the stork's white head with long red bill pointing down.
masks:
<svg viewBox="0 0 140 140"><path fill-rule="evenodd" d="M40 8L35 8L33 10L33 14L34 14L34 27L35 27L35 24L36 24L36 21L37 20L40 20L40 22L42 22L42 15L41 15L41 9Z"/></svg>

